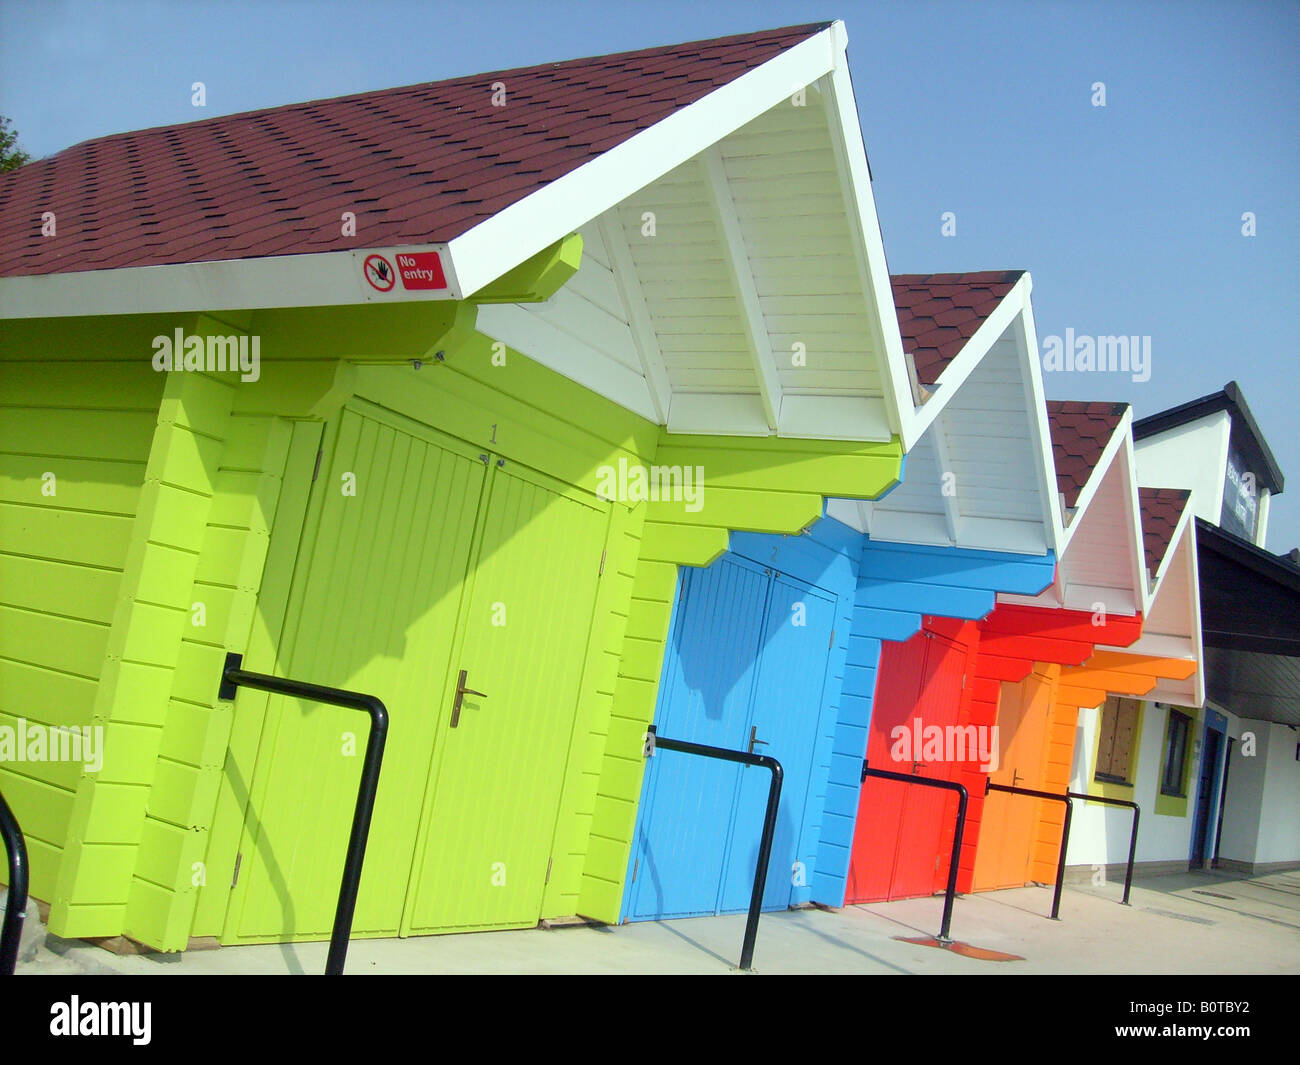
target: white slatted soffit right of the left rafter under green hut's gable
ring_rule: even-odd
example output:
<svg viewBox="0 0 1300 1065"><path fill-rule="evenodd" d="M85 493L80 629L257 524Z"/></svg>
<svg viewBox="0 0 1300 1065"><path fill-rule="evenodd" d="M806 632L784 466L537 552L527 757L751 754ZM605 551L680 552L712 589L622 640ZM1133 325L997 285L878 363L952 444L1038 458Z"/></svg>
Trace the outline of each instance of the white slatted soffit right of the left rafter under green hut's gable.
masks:
<svg viewBox="0 0 1300 1065"><path fill-rule="evenodd" d="M720 205L710 168L694 159L618 208L675 393L757 393L755 360L771 359L764 373L783 393L881 394L827 121L810 91L720 142Z"/></svg>

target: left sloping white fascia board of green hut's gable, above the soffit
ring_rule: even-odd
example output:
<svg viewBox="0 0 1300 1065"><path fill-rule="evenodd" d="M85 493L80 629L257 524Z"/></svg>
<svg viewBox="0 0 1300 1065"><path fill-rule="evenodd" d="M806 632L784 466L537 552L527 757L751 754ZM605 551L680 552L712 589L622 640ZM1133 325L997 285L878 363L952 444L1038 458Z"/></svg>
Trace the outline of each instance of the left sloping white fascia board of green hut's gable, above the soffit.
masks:
<svg viewBox="0 0 1300 1065"><path fill-rule="evenodd" d="M829 73L835 55L827 27L454 238L465 296Z"/></svg>

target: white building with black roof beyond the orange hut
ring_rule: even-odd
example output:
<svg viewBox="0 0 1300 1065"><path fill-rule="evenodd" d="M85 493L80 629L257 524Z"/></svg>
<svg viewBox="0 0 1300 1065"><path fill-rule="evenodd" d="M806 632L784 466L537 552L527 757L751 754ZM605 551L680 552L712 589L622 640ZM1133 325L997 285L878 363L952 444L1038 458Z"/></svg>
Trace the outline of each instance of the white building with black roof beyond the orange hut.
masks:
<svg viewBox="0 0 1300 1065"><path fill-rule="evenodd" d="M1140 486L1191 493L1205 705L1157 689L1082 710L1070 789L1139 805L1140 871L1297 869L1300 566L1262 546L1282 472L1235 382L1136 421L1134 440ZM1130 823L1078 802L1071 873L1122 876Z"/></svg>

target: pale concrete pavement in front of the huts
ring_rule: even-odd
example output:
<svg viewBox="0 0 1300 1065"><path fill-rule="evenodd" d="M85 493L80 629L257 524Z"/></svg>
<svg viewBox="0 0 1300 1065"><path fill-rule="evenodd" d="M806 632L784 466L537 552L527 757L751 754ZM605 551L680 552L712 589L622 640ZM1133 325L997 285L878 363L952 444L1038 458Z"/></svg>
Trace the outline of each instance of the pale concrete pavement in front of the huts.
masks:
<svg viewBox="0 0 1300 1065"><path fill-rule="evenodd" d="M1300 973L1300 871L1240 878L1188 873L1138 880L1132 904L1119 883L1067 887L1061 921L1049 888L957 900L953 938L1023 961L985 961L904 943L933 935L942 899L909 899L844 910L764 914L759 974L954 973ZM224 947L183 954L118 956L47 936L35 917L20 973L320 973L326 944ZM415 939L359 939L347 971L484 974L736 973L744 915Z"/></svg>

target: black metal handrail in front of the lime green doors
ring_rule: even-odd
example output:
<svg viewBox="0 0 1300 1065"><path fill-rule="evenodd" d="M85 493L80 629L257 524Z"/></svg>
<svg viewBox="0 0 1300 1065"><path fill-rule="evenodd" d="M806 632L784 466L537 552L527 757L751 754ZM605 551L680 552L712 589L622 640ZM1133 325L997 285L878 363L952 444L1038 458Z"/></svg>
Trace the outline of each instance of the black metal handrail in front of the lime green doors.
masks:
<svg viewBox="0 0 1300 1065"><path fill-rule="evenodd" d="M380 787L380 766L384 762L384 743L389 732L389 711L374 696L346 692L342 688L326 688L322 684L308 684L304 680L289 680L269 674L254 674L240 668L242 664L242 654L231 651L226 655L226 663L221 671L221 698L233 700L239 688L257 688L263 692L325 702L330 706L364 710L370 715L370 735L365 741L361 783L356 791L356 811L352 814L352 832L347 840L343 880L339 884L338 906L334 910L334 931L330 934L329 957L325 961L325 975L339 977L343 974L343 962L347 960L347 941L352 935L352 914L356 910L356 893L361 884L361 863L365 860L365 841L370 834L374 795Z"/></svg>

